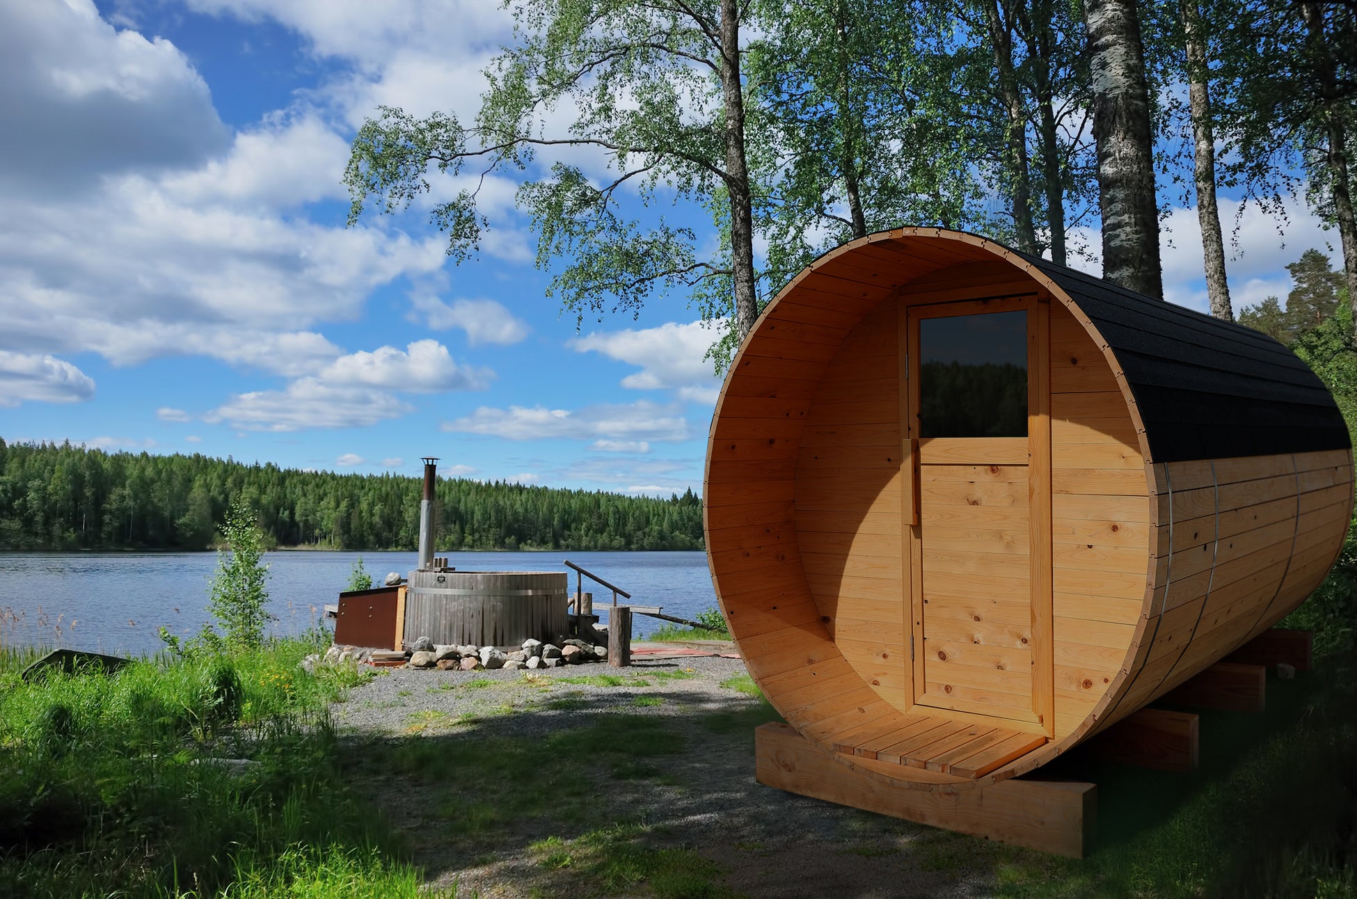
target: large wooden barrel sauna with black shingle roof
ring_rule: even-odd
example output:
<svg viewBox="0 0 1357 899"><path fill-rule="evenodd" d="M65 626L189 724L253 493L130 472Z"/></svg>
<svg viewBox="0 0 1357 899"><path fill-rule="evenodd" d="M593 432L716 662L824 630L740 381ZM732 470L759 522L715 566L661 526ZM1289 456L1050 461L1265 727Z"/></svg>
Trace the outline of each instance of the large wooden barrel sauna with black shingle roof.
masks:
<svg viewBox="0 0 1357 899"><path fill-rule="evenodd" d="M712 582L750 674L913 789L1049 762L1295 609L1342 546L1348 430L1253 329L974 235L797 275L711 423Z"/></svg>

